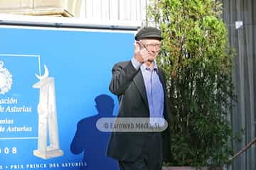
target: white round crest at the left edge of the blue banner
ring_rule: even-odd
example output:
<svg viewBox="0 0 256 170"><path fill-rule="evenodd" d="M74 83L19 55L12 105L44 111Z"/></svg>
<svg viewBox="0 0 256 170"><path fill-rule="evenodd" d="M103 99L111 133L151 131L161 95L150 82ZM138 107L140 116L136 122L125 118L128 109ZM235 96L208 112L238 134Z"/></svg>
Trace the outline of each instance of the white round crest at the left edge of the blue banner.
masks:
<svg viewBox="0 0 256 170"><path fill-rule="evenodd" d="M4 62L0 61L0 94L5 94L11 89L12 75L4 68Z"/></svg>

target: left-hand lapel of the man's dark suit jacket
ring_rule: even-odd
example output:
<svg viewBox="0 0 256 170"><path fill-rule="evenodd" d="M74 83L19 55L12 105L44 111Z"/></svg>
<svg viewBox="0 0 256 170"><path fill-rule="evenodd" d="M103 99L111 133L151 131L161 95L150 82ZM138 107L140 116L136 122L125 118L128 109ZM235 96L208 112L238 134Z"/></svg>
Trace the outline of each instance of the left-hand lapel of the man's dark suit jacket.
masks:
<svg viewBox="0 0 256 170"><path fill-rule="evenodd" d="M142 95L142 98L146 103L146 106L149 107L149 103L146 97L146 87L145 87L144 79L142 76L142 70L139 70L138 74L134 77L133 81L134 81L134 84L137 86L137 89L139 89L139 92Z"/></svg>

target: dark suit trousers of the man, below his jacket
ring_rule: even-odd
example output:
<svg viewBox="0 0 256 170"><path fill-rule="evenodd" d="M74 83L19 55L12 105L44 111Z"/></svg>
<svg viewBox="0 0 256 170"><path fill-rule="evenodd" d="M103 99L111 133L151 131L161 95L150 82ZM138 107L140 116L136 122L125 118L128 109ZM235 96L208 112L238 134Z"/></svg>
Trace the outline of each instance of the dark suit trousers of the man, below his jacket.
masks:
<svg viewBox="0 0 256 170"><path fill-rule="evenodd" d="M163 147L160 132L148 132L142 153L134 162L119 161L120 170L161 170Z"/></svg>

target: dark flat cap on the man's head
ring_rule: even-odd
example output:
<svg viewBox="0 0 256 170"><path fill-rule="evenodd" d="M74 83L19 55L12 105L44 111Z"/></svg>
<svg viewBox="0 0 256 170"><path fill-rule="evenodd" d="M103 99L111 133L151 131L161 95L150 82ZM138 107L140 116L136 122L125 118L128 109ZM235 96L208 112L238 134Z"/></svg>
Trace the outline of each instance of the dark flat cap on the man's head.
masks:
<svg viewBox="0 0 256 170"><path fill-rule="evenodd" d="M135 40L142 40L145 38L156 38L159 40L163 39L161 37L161 30L154 27L144 27L135 35Z"/></svg>

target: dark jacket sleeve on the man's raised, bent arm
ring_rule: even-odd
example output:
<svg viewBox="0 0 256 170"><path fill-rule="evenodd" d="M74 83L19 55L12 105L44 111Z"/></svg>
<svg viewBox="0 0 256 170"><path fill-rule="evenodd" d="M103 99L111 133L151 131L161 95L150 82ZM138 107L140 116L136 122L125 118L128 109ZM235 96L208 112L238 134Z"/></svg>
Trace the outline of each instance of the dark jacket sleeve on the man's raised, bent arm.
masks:
<svg viewBox="0 0 256 170"><path fill-rule="evenodd" d="M124 91L128 88L138 71L133 67L132 62L114 64L109 87L110 91L115 95L124 94Z"/></svg>

